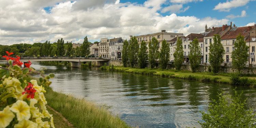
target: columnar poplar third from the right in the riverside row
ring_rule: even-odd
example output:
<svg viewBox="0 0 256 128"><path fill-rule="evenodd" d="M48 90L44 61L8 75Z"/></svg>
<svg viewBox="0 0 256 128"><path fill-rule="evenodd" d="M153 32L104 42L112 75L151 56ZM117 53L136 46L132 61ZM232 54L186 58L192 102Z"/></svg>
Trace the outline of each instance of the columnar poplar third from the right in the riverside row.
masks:
<svg viewBox="0 0 256 128"><path fill-rule="evenodd" d="M201 63L201 48L198 43L198 39L194 39L190 44L190 53L188 55L190 66L193 72L198 71Z"/></svg>

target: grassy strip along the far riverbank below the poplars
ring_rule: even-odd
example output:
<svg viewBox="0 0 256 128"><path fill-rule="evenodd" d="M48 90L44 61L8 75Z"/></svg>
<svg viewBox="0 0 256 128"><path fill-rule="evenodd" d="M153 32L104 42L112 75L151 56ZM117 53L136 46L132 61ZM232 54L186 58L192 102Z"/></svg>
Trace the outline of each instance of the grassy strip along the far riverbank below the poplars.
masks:
<svg viewBox="0 0 256 128"><path fill-rule="evenodd" d="M230 76L231 73L219 73L213 74L211 72L190 72L190 71L177 71L177 70L162 70L162 69L138 69L131 67L111 67L111 66L102 66L100 69L102 70L110 70L110 71L120 71L120 72L128 72L128 73L137 73L137 74L146 74L146 75L157 75L157 76L166 76L173 77L179 79L187 79L187 80L197 80L197 81L207 81L207 82L216 82L216 83L225 83L231 84ZM248 78L247 86L255 86L256 85L256 77L245 77Z"/></svg>

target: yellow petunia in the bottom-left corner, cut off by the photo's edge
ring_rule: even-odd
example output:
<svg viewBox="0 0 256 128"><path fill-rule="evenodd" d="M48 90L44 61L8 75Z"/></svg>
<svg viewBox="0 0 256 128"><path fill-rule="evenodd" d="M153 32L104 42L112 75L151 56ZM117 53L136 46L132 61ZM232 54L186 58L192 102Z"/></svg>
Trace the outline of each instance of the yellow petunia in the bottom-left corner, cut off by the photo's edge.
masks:
<svg viewBox="0 0 256 128"><path fill-rule="evenodd" d="M6 106L3 111L0 111L0 128L7 127L14 117L15 115L10 111L10 107Z"/></svg>

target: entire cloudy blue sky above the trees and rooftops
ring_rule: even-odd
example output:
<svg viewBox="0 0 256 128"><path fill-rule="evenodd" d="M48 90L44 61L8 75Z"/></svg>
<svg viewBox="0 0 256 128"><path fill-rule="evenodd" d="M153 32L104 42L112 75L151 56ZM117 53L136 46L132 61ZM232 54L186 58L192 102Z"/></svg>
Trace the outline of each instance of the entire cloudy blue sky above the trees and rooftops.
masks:
<svg viewBox="0 0 256 128"><path fill-rule="evenodd" d="M82 43L160 32L254 25L256 0L0 0L0 44Z"/></svg>

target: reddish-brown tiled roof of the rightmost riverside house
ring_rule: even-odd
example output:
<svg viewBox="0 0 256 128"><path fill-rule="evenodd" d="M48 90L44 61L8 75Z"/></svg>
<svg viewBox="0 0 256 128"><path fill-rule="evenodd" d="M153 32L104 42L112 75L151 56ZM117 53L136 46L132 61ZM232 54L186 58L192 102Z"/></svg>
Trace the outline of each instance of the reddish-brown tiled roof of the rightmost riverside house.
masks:
<svg viewBox="0 0 256 128"><path fill-rule="evenodd" d="M255 26L246 26L246 27L236 27L236 28L232 28L230 29L226 34L223 35L223 37L221 38L222 40L227 40L227 39L236 39L237 35L239 33L241 33L241 35L243 35L244 37L246 37L249 32L252 29L248 29L248 27L254 28ZM246 39L246 41L249 41L249 39Z"/></svg>

